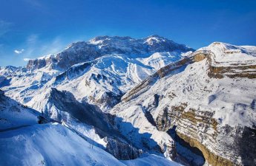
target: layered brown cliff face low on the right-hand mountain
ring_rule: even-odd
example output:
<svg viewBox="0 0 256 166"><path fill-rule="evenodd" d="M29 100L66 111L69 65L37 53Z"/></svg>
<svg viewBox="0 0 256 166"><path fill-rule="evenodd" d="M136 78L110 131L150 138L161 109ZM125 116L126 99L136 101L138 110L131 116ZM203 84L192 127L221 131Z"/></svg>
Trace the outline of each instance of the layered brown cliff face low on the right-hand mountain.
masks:
<svg viewBox="0 0 256 166"><path fill-rule="evenodd" d="M157 117L158 128L167 131L176 125L177 135L188 142L191 147L200 149L209 164L234 165L229 159L212 153L209 148L215 151L218 149L219 153L225 153L226 156L230 158L233 157L234 159L235 155L232 152L234 149L237 151L238 147L234 145L234 140L237 138L229 138L229 141L226 142L227 137L234 136L226 133L223 129L217 128L217 121L212 117L214 113L210 111L193 110L191 108L185 111L185 109L186 104L183 103L181 103L180 106L172 106L169 111L166 111L165 108L163 114L159 114ZM230 128L230 126L228 125L227 128ZM237 133L236 131L233 132ZM211 144L202 145L201 142L211 142ZM225 147L225 152L223 152L223 148L220 149L218 147ZM237 157L237 160L238 159Z"/></svg>

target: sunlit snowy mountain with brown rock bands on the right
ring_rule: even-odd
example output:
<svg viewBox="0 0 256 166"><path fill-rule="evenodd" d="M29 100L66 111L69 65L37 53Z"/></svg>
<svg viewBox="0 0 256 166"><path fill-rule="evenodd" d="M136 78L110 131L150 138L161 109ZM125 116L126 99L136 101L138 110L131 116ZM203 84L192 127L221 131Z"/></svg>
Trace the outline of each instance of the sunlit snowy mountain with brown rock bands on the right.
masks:
<svg viewBox="0 0 256 166"><path fill-rule="evenodd" d="M175 126L177 135L198 148L209 165L255 165L254 50L211 44L142 81L114 110L137 112L129 106L141 105L152 115L151 124L160 131Z"/></svg>

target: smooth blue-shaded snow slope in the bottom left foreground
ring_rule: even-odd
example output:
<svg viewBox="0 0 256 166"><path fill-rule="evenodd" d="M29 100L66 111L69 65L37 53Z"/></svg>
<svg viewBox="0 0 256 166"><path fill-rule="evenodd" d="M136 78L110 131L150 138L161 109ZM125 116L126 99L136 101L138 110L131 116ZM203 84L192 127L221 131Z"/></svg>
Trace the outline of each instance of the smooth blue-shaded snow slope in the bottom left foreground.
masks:
<svg viewBox="0 0 256 166"><path fill-rule="evenodd" d="M0 156L0 165L177 165L151 155L122 163L56 123L0 132Z"/></svg>

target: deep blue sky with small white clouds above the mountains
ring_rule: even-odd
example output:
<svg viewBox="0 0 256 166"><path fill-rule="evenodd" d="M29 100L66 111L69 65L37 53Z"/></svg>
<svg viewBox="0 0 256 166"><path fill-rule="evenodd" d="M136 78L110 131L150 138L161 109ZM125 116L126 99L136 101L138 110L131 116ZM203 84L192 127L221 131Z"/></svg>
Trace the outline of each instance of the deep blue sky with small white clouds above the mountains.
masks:
<svg viewBox="0 0 256 166"><path fill-rule="evenodd" d="M256 45L255 0L0 0L0 66L97 35L162 35L198 49Z"/></svg>

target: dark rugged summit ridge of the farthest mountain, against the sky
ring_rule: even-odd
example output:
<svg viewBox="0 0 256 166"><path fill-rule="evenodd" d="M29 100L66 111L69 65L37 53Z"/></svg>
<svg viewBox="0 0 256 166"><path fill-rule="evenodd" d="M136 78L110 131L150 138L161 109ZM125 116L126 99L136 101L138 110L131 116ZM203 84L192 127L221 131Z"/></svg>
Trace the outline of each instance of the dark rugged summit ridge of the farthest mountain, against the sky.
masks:
<svg viewBox="0 0 256 166"><path fill-rule="evenodd" d="M152 35L148 38L134 39L131 37L99 36L91 41L76 42L63 52L43 58L29 60L27 69L40 69L50 66L52 69L65 70L76 63L94 60L108 54L146 54L152 52L171 52L180 50L188 52L194 49L177 44L167 38Z"/></svg>

